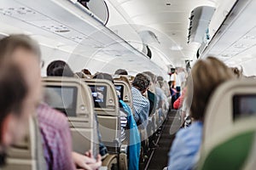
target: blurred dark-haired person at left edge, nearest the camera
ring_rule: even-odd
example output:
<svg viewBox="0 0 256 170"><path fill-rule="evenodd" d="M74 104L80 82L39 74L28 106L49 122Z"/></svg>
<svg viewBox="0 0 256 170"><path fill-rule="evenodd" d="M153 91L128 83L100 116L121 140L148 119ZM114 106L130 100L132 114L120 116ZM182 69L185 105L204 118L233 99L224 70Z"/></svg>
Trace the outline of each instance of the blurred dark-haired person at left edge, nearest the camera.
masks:
<svg viewBox="0 0 256 170"><path fill-rule="evenodd" d="M16 65L0 65L0 167L5 163L5 150L25 135L28 117L32 114L25 108L35 107L26 102L29 96L20 69Z"/></svg>

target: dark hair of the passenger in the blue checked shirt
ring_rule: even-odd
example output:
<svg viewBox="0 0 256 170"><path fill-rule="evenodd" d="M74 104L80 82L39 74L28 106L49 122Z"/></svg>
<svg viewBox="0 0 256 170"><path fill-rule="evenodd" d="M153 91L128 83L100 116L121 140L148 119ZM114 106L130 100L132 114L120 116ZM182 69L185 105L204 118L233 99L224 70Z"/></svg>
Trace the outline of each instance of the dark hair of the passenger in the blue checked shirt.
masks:
<svg viewBox="0 0 256 170"><path fill-rule="evenodd" d="M150 77L143 73L138 73L132 82L132 86L143 92L150 84Z"/></svg>

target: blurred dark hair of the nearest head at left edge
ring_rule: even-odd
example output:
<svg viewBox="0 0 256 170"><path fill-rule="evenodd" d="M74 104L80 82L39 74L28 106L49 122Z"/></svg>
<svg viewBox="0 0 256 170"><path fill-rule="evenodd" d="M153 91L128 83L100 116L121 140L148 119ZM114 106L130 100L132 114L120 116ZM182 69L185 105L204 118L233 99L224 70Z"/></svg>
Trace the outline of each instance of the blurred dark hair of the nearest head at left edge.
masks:
<svg viewBox="0 0 256 170"><path fill-rule="evenodd" d="M0 67L0 126L10 113L20 116L28 92L22 73L16 65Z"/></svg>

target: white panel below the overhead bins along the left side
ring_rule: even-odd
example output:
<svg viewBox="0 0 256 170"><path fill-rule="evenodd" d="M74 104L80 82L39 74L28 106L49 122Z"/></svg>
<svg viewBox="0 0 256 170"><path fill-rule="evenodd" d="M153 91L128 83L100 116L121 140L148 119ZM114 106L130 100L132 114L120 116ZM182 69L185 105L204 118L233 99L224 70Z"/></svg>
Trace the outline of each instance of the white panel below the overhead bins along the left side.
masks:
<svg viewBox="0 0 256 170"><path fill-rule="evenodd" d="M107 64L111 61L111 65L116 65L116 59L121 58L127 67L141 63L137 71L149 67L162 75L159 66L72 1L2 0L0 16L0 32L28 33L35 37L41 48L46 49L43 53L46 63L64 59L71 62L72 68L81 69L100 65L97 61Z"/></svg>

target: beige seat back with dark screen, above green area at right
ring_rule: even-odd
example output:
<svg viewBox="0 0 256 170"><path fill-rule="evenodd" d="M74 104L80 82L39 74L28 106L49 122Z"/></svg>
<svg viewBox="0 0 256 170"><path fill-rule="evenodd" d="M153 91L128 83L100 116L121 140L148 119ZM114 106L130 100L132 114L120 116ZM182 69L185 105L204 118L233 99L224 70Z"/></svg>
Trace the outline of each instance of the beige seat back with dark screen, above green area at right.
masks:
<svg viewBox="0 0 256 170"><path fill-rule="evenodd" d="M212 94L204 120L203 142L206 144L225 129L234 127L243 116L256 116L256 82L232 80Z"/></svg>

